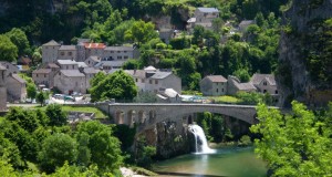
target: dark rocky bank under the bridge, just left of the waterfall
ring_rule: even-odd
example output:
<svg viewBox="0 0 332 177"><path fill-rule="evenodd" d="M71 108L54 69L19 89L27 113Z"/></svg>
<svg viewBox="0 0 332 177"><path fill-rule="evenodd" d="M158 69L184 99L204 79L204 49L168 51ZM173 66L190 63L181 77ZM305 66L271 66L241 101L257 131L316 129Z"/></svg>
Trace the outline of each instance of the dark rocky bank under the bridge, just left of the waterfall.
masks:
<svg viewBox="0 0 332 177"><path fill-rule="evenodd" d="M190 153L193 136L188 133L187 125L177 122L160 122L152 129L143 133L146 143L157 148L158 158L170 158Z"/></svg>

